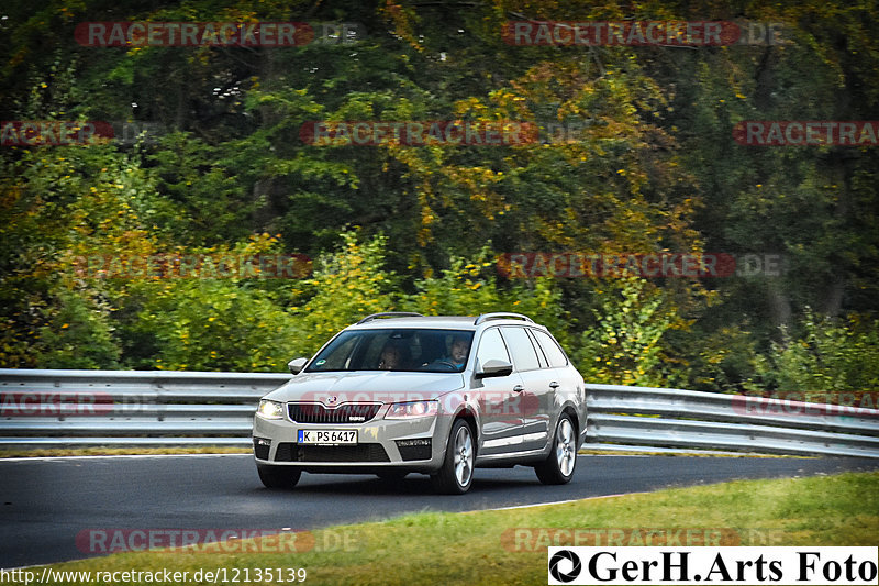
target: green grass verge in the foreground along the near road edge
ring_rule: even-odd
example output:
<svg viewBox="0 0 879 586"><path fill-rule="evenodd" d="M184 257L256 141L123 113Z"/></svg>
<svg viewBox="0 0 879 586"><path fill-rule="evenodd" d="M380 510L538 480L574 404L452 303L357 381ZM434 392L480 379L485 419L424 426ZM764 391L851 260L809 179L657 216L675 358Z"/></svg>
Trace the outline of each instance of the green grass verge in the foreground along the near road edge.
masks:
<svg viewBox="0 0 879 586"><path fill-rule="evenodd" d="M550 489L546 498L552 498ZM430 499L425 496L425 505ZM294 515L294 491L290 500ZM515 528L705 528L725 529L741 545L875 545L879 473L742 480L505 511L407 515L315 531L318 544L332 538L332 543L347 540L348 546L318 546L304 553L218 553L216 548L204 548L198 553L114 554L53 567L168 568L190 575L199 568L304 567L307 584L346 586L546 584L545 549L516 551L514 542L504 541Z"/></svg>

